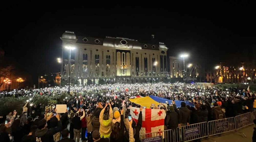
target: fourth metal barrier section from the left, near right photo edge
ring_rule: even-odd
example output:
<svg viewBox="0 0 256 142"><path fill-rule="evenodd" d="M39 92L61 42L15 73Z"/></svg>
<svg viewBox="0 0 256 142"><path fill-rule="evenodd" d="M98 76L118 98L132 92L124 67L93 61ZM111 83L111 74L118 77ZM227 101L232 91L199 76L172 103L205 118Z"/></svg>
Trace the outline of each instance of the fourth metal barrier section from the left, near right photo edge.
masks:
<svg viewBox="0 0 256 142"><path fill-rule="evenodd" d="M236 129L243 128L253 123L253 113L248 112L235 116Z"/></svg>

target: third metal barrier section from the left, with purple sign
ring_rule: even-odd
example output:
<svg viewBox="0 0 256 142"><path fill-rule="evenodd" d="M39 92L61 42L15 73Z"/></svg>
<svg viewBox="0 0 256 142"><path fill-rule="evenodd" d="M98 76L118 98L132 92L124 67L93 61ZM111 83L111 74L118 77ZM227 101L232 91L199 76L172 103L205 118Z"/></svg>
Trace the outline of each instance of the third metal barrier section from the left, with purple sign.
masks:
<svg viewBox="0 0 256 142"><path fill-rule="evenodd" d="M213 120L208 122L208 135L218 135L236 130L235 118L224 118L219 120Z"/></svg>

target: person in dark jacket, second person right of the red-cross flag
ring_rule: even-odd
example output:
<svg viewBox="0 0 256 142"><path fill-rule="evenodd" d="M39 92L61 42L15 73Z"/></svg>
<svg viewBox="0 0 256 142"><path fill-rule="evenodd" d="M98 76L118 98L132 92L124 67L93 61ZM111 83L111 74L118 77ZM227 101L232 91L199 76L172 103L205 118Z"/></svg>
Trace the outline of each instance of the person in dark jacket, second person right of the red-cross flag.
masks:
<svg viewBox="0 0 256 142"><path fill-rule="evenodd" d="M181 108L179 109L180 126L189 125L190 110L186 107L184 102L181 102Z"/></svg>

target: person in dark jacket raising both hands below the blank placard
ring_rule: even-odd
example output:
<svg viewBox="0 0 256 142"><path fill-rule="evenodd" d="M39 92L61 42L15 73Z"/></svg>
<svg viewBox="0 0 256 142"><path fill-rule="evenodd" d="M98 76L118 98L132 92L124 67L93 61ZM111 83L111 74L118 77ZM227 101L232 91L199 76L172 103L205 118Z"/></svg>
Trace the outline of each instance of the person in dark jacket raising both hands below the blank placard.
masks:
<svg viewBox="0 0 256 142"><path fill-rule="evenodd" d="M53 116L53 114L46 119L42 119L38 122L38 130L36 130L35 136L36 141L42 141L42 142L54 142L53 135L57 132L61 131L61 121L59 118L59 114L55 116L58 120L57 127L54 128L47 128L47 121L50 120L50 118Z"/></svg>

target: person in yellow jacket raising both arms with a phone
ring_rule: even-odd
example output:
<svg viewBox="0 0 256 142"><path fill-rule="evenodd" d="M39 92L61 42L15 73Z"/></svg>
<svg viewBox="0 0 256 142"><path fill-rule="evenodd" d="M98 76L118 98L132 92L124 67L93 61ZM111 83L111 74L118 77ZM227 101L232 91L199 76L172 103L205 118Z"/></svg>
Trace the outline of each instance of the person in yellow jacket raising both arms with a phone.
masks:
<svg viewBox="0 0 256 142"><path fill-rule="evenodd" d="M104 111L108 105L110 107L109 114L104 114ZM111 122L113 119L113 110L110 103L108 104L106 103L105 107L101 110L99 119L100 119L100 137L110 138L110 134L112 132Z"/></svg>

